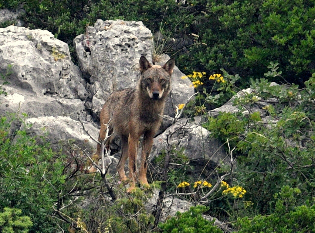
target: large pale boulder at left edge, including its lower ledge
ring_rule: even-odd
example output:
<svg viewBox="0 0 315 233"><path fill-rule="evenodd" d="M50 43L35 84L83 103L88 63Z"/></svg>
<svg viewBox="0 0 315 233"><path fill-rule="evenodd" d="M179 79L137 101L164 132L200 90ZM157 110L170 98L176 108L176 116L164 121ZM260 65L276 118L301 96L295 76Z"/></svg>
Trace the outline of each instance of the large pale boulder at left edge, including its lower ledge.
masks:
<svg viewBox="0 0 315 233"><path fill-rule="evenodd" d="M52 33L0 28L0 73L8 82L2 87L7 96L0 96L1 114L86 119L86 81L71 61L68 45Z"/></svg>

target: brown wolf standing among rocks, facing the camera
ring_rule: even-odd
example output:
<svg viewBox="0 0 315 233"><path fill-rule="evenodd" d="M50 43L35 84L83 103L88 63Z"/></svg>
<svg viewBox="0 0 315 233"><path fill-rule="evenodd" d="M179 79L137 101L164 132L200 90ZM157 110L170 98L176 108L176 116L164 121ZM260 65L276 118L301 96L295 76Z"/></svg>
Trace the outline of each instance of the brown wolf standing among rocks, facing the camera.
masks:
<svg viewBox="0 0 315 233"><path fill-rule="evenodd" d="M123 183L129 182L127 190L129 193L135 189L137 179L141 186L145 188L149 186L146 178L146 158L150 154L153 137L162 123L175 60L169 59L163 66L157 66L152 65L145 56L141 56L139 65L141 75L136 87L113 92L100 112L99 142L104 140L107 128L108 135L111 135L105 144L107 150L112 138L120 137L122 155L117 165L117 172ZM141 163L137 177L136 156L138 142L142 135ZM97 146L96 153L100 156L100 144ZM124 172L127 158L129 158L129 179Z"/></svg>

